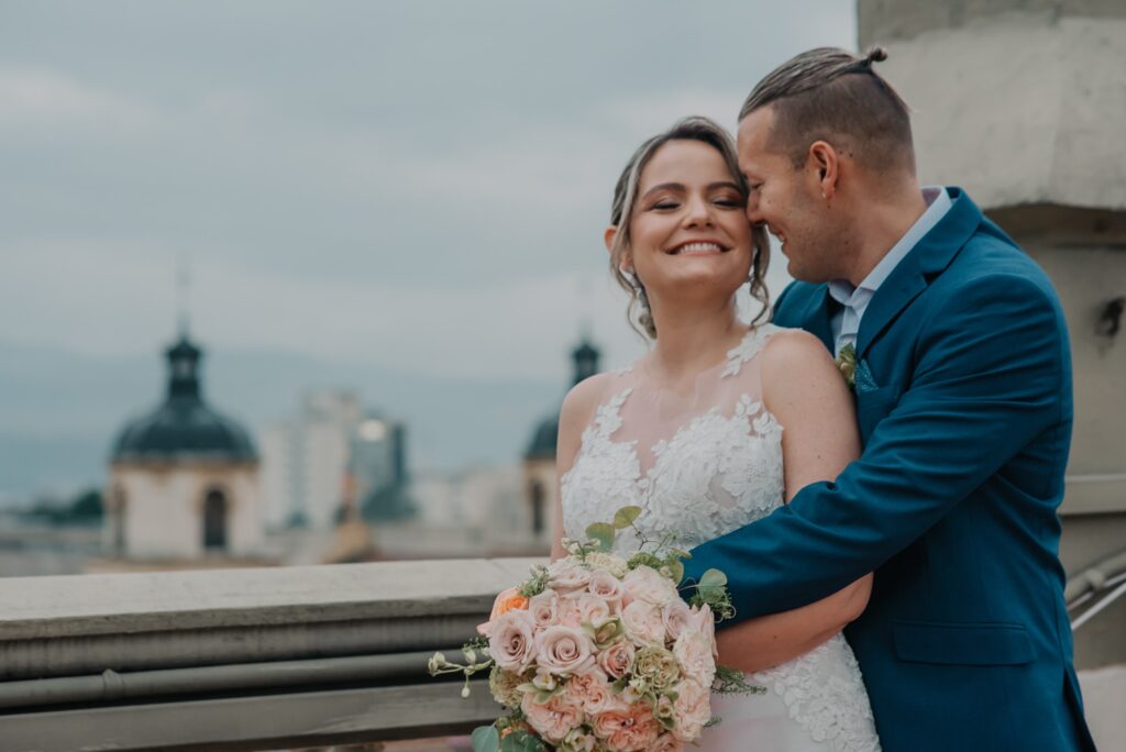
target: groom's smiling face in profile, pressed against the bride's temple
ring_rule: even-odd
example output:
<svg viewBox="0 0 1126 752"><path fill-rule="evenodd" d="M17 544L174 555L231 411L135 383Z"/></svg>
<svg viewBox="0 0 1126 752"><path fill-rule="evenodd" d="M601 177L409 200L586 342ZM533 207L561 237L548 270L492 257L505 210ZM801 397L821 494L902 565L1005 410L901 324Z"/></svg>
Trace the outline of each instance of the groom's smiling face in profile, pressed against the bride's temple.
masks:
<svg viewBox="0 0 1126 752"><path fill-rule="evenodd" d="M781 243L790 276L826 281L839 276L833 269L835 232L823 211L815 171L795 167L793 158L772 143L774 119L774 108L767 106L739 124L739 167L750 186L747 216Z"/></svg>

